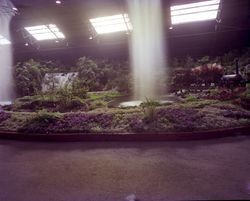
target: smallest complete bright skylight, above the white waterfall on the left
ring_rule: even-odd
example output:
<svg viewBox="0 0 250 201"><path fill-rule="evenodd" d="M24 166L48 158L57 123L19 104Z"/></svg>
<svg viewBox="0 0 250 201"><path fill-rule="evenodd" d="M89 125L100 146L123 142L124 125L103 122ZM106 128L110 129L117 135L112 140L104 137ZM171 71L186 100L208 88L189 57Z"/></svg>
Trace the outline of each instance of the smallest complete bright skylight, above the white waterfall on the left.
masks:
<svg viewBox="0 0 250 201"><path fill-rule="evenodd" d="M64 39L64 34L58 29L55 24L40 25L33 27L25 27L25 29L36 39L36 40L56 40Z"/></svg>

